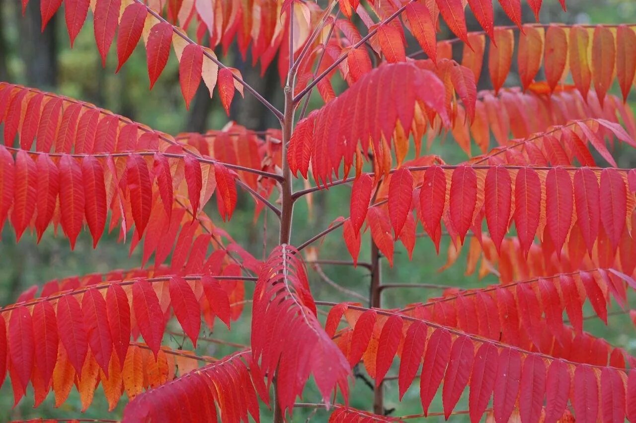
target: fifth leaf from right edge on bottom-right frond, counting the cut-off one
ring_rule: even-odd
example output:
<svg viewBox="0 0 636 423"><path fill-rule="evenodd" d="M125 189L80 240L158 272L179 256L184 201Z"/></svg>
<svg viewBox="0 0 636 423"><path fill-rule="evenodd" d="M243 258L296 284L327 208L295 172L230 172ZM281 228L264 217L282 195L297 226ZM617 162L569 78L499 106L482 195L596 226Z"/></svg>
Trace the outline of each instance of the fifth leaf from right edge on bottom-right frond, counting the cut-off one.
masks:
<svg viewBox="0 0 636 423"><path fill-rule="evenodd" d="M529 354L523 361L519 394L519 413L523 422L539 422L545 392L546 363L541 356Z"/></svg>

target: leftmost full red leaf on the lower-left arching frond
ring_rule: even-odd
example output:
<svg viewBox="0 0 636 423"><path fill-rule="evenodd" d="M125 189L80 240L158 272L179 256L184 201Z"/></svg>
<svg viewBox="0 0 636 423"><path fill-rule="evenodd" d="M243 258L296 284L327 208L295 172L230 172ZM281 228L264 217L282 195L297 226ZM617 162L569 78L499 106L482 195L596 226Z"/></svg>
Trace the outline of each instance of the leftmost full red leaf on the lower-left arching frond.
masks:
<svg viewBox="0 0 636 423"><path fill-rule="evenodd" d="M4 324L4 322L2 323ZM33 368L35 339L33 319L29 309L24 307L24 305L20 305L11 311L8 340L11 366L15 368L18 382L20 382L20 386L25 391ZM38 340L38 342L43 342L43 340ZM11 378L13 378L13 375Z"/></svg>

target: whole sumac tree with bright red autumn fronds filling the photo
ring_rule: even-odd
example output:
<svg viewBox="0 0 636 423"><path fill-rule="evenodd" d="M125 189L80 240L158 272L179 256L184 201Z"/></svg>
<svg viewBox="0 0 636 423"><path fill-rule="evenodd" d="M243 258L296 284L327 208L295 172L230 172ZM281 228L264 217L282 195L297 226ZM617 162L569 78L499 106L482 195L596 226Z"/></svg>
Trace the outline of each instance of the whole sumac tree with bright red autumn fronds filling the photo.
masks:
<svg viewBox="0 0 636 423"><path fill-rule="evenodd" d="M48 282L0 309L0 380L10 375L15 402L31 384L36 405L50 391L60 405L75 385L86 408L101 384L111 408L130 399L125 422L259 420L261 402L275 422L297 406L324 406L333 422L395 421L387 380L401 398L417 377L422 415L440 391L443 410L431 413L446 419L635 421L636 361L584 331L583 316L589 303L607 323L612 299L625 309L636 289L636 170L612 155L636 147L625 104L635 28L524 24L520 0L499 1L513 25L495 27L493 3L42 0L43 24L62 10L71 44L92 13L102 60L116 50L118 68L142 41L151 88L175 54L186 107L204 83L226 111L236 91L256 96L280 127L172 136L0 83L0 225L18 239L56 226L71 249L83 230L94 246L117 230L143 257L139 268ZM538 18L542 2L527 3ZM465 13L483 31L467 32ZM441 21L457 38L436 39ZM407 55L408 32L422 50ZM277 59L282 108L212 50L234 42L255 66ZM518 76L508 78L513 58ZM483 78L492 90L477 90ZM506 84L516 79L520 87ZM310 109L314 91L324 104ZM439 134L467 160L427 155ZM215 197L232 218L239 190L257 215L279 218L264 260L205 212ZM294 202L320 190L350 190L350 209L292 241ZM352 261L324 264L370 270L368 302L312 296L306 263L319 260L303 250L340 230ZM393 264L396 244L411 255L422 236L438 252L449 237L451 263L469 244L467 272L481 260L480 274L501 283L383 309L380 293L401 285L383 283L381 263ZM249 349L213 359L165 343L170 321L196 346L202 321L217 318L251 319ZM373 413L349 407L354 368L373 380ZM296 402L307 384L322 405ZM455 410L464 391L468 410Z"/></svg>

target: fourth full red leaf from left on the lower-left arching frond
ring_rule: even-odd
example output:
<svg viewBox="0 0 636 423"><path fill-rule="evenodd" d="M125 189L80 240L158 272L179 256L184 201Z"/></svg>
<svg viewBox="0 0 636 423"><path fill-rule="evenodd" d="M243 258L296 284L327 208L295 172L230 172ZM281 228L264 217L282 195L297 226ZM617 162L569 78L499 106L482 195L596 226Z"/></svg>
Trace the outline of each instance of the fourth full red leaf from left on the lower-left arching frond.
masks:
<svg viewBox="0 0 636 423"><path fill-rule="evenodd" d="M86 321L88 345L107 377L113 354L113 337L108 324L106 300L102 293L95 288L88 289L81 300L81 311Z"/></svg>

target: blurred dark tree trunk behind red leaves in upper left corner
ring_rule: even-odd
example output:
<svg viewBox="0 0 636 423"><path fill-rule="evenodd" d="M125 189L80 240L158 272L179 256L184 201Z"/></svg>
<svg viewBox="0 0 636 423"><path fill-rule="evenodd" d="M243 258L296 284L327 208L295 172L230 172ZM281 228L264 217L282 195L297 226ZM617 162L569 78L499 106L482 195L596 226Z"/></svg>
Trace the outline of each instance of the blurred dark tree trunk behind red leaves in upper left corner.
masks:
<svg viewBox="0 0 636 423"><path fill-rule="evenodd" d="M57 85L57 41L55 26L58 15L41 32L40 1L32 0L27 5L24 18L22 9L16 8L20 22L20 45L17 50L24 62L26 83L30 87L51 89Z"/></svg>

